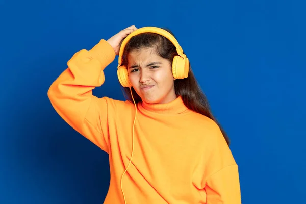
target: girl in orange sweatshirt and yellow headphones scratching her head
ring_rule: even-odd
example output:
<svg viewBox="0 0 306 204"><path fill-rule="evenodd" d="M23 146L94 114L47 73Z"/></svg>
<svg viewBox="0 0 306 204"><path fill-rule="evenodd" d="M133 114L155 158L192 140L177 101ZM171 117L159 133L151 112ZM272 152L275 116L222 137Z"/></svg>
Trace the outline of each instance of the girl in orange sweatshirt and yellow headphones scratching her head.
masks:
<svg viewBox="0 0 306 204"><path fill-rule="evenodd" d="M126 101L92 95L116 55ZM69 125L109 154L104 203L241 203L229 140L170 31L131 26L67 64L48 97Z"/></svg>

